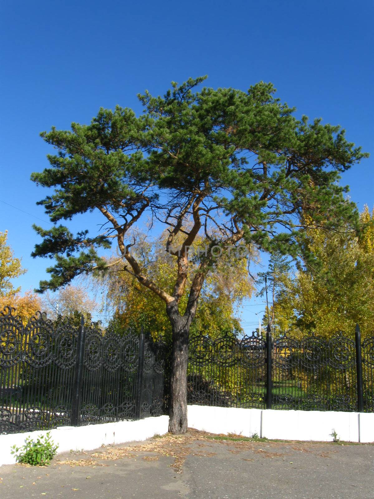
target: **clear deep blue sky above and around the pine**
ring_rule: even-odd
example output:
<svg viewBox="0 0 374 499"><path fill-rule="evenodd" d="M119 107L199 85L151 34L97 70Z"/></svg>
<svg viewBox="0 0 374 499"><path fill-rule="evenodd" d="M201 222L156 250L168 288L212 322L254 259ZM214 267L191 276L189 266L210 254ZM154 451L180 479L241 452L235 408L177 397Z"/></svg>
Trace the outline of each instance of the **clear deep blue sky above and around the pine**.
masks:
<svg viewBox="0 0 374 499"><path fill-rule="evenodd" d="M37 237L30 181L47 166L38 137L52 125L87 123L100 106L141 106L144 89L208 74L207 85L246 90L271 81L298 114L341 124L372 157L344 175L361 209L374 205L372 1L9 1L0 7L0 231L28 272L22 290L45 277L48 260L29 255ZM94 228L94 220L91 225ZM41 222L40 222L41 223ZM41 225L43 225L41 223ZM46 225L46 224L45 224ZM74 223L72 227L77 227ZM254 322L246 306L243 318ZM249 326L249 325L248 325Z"/></svg>

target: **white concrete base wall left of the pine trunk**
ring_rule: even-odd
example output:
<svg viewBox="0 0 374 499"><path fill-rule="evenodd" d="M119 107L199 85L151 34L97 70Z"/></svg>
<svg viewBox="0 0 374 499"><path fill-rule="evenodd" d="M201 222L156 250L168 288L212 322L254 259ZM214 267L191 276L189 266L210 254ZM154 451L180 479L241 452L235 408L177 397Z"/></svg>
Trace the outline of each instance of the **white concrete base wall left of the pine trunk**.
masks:
<svg viewBox="0 0 374 499"><path fill-rule="evenodd" d="M55 430L49 430L49 432L53 442L58 444L57 454L60 454L70 450L91 451L103 444L123 444L146 440L156 434L168 433L168 426L169 417L158 416L139 421L119 421L81 427L61 426ZM43 430L0 435L0 466L15 463L15 457L10 454L14 444L17 447L22 447L28 436L35 440L38 435L46 435L47 432Z"/></svg>

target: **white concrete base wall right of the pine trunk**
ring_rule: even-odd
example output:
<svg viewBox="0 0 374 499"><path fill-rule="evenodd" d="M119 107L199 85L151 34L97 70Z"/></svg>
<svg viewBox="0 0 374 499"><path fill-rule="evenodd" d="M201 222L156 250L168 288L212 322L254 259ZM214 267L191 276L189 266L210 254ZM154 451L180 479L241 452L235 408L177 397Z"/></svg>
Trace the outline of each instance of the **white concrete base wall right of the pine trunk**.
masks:
<svg viewBox="0 0 374 499"><path fill-rule="evenodd" d="M276 411L188 406L188 426L227 435L279 440L329 442L333 429L340 440L374 442L374 414L329 411Z"/></svg>

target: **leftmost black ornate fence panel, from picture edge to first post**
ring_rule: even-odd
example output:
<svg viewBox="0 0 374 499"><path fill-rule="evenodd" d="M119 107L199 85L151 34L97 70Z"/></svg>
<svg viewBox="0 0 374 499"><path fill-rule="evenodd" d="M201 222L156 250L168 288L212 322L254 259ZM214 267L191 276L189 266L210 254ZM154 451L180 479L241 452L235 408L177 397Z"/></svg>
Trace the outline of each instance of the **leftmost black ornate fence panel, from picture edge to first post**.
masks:
<svg viewBox="0 0 374 499"><path fill-rule="evenodd" d="M0 314L0 434L69 425L77 330L54 328L38 312L23 326L14 308Z"/></svg>

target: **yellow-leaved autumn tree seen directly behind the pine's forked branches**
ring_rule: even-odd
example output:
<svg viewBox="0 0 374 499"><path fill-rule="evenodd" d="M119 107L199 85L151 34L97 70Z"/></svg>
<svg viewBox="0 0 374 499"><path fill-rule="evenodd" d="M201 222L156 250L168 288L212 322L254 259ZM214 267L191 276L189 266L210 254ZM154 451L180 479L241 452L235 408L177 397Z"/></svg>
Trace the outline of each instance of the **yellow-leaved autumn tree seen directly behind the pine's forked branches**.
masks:
<svg viewBox="0 0 374 499"><path fill-rule="evenodd" d="M152 280L172 294L177 262L174 256L165 251L168 236L169 233L164 231L157 242L149 243L146 234L137 233L132 251L136 252L141 266L147 268L148 275L152 275ZM206 243L203 238L196 237L194 247L197 250ZM254 254L250 256L256 257ZM181 308L187 305L187 289L195 270L193 262L190 265L191 271L180 301ZM144 289L138 279L122 270L123 264L119 262L111 267L110 272L99 276L105 288L105 310L114 317L112 325L121 332L129 326L144 324L154 338L170 340L172 327L164 303L155 300L150 289ZM97 287L97 281L94 281L94 287ZM214 272L208 272L205 277L191 330L195 333L206 331L213 338L227 330L241 332L234 308L244 298L250 297L252 290L253 279L248 273L248 259L235 254L232 258L228 258L227 254L222 255Z"/></svg>

